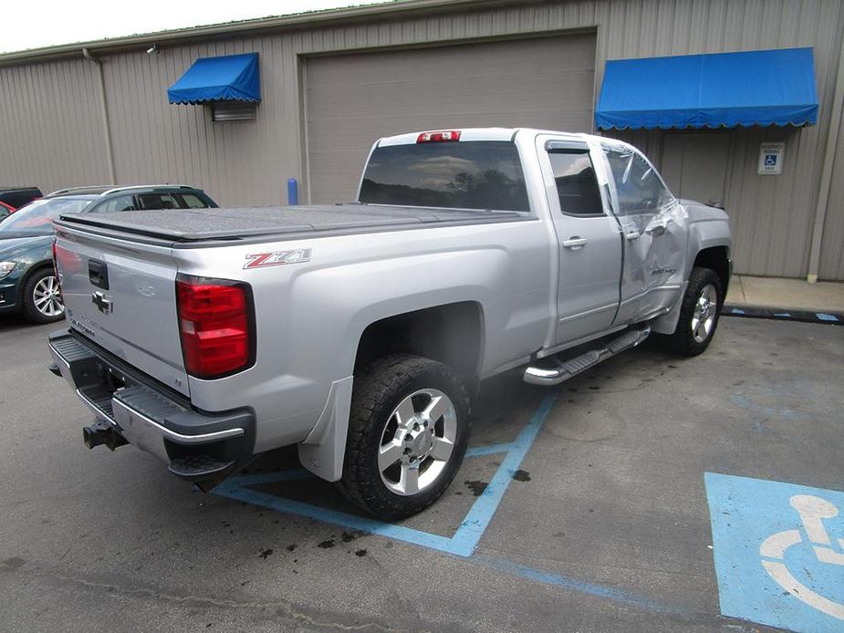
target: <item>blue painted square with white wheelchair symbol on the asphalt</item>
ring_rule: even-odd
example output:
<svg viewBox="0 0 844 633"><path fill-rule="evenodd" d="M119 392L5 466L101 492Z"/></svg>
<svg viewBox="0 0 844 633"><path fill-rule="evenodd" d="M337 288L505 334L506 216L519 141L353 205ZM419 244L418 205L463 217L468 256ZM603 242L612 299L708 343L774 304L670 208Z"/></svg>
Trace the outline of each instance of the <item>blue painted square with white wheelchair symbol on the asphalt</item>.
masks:
<svg viewBox="0 0 844 633"><path fill-rule="evenodd" d="M844 493L707 472L724 616L844 630Z"/></svg>

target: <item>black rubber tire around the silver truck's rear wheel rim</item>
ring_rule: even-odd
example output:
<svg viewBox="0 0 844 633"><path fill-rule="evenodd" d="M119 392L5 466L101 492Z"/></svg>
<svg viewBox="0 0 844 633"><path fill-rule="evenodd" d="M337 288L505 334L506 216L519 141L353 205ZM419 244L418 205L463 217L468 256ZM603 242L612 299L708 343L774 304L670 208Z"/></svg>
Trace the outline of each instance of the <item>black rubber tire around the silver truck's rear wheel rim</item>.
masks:
<svg viewBox="0 0 844 633"><path fill-rule="evenodd" d="M450 456L443 460L439 474L427 487L418 493L395 493L382 480L379 451L388 425L397 420L393 412L403 400L423 389L435 389L451 400L453 409L449 411L456 415L456 437ZM444 417L437 420L441 421L434 420L436 424L445 424ZM430 358L407 354L379 358L355 376L339 489L350 501L384 521L416 514L436 501L452 482L463 462L468 441L469 395L451 368ZM418 472L424 473L425 465L431 463L421 462ZM401 468L401 462L396 466Z"/></svg>

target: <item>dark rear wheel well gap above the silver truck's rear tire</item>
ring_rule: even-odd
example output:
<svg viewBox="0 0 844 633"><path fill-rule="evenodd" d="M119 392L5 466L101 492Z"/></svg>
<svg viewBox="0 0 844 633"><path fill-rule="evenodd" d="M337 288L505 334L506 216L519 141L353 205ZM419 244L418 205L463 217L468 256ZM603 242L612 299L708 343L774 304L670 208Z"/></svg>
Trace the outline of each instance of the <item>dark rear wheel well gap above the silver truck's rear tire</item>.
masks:
<svg viewBox="0 0 844 633"><path fill-rule="evenodd" d="M474 379L481 358L481 306L466 301L389 316L360 336L355 373L376 358L405 353L432 358Z"/></svg>

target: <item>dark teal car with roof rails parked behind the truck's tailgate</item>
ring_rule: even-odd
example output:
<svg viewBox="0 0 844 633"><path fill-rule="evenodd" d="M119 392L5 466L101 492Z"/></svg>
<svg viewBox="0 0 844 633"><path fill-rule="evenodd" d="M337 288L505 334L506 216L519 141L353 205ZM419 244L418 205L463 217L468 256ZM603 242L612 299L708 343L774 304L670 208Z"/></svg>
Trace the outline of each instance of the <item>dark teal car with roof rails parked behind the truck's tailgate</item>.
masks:
<svg viewBox="0 0 844 633"><path fill-rule="evenodd" d="M64 316L53 270L53 220L68 213L217 206L188 185L77 187L29 202L0 222L0 315L22 312L35 323Z"/></svg>

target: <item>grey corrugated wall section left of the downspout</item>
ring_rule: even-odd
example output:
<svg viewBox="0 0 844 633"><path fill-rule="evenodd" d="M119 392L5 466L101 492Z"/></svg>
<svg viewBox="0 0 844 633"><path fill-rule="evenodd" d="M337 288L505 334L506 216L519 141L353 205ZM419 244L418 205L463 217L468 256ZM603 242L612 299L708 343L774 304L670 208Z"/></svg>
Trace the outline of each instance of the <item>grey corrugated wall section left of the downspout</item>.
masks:
<svg viewBox="0 0 844 633"><path fill-rule="evenodd" d="M45 193L108 183L97 69L78 61L0 67L0 184Z"/></svg>

